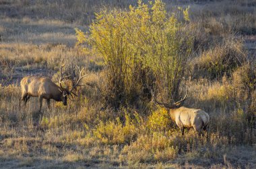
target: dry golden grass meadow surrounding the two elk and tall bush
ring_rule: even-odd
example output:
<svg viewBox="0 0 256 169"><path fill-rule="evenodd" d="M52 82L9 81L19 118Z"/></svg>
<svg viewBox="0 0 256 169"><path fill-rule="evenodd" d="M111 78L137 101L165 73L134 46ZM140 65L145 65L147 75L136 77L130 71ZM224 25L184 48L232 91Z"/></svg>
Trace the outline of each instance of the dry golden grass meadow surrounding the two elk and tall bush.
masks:
<svg viewBox="0 0 256 169"><path fill-rule="evenodd" d="M188 4L166 2L169 12L174 5ZM63 61L67 71L71 63L86 65L90 75L84 82L104 86L100 57L74 46L73 28L86 30L99 4L124 8L130 3L135 1L0 1L1 167L256 168L255 49L245 48L245 43L255 43L255 1L189 3L202 65L208 63L204 55L211 61L222 56L223 34L233 29L249 40L239 41L241 46L232 50L251 53L251 67L237 65L228 77L209 80L201 72L196 79L183 80L189 88L185 106L210 115L208 139L193 130L182 136L168 114L151 103L139 109L102 109L98 90L86 86L67 107L53 101L47 109L43 103L44 116L38 116L38 98L31 98L26 108L20 106L18 81L30 74L57 81Z"/></svg>

